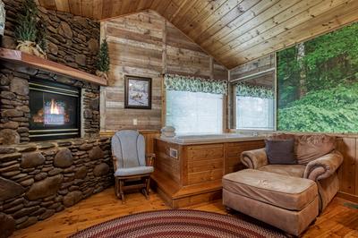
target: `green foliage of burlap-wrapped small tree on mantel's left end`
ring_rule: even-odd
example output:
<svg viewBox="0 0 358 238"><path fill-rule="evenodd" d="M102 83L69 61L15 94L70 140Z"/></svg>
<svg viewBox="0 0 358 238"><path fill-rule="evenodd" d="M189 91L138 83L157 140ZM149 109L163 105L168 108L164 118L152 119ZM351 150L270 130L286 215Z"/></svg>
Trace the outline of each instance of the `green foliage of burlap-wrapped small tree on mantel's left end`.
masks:
<svg viewBox="0 0 358 238"><path fill-rule="evenodd" d="M38 8L33 0L23 0L21 14L14 30L15 38L21 41L36 41L38 34L36 13Z"/></svg>

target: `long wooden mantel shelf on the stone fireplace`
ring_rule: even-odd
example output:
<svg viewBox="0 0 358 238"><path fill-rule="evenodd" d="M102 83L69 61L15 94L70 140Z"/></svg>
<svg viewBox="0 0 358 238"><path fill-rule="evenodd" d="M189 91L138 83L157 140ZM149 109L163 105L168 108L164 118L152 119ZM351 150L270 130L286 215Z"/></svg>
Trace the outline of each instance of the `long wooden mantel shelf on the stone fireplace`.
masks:
<svg viewBox="0 0 358 238"><path fill-rule="evenodd" d="M55 72L57 74L75 78L81 81L88 81L102 86L107 86L107 81L96 75L90 74L88 72L82 72L64 64L58 64L35 55L23 53L19 50L0 47L0 60L17 64L25 64L47 72Z"/></svg>

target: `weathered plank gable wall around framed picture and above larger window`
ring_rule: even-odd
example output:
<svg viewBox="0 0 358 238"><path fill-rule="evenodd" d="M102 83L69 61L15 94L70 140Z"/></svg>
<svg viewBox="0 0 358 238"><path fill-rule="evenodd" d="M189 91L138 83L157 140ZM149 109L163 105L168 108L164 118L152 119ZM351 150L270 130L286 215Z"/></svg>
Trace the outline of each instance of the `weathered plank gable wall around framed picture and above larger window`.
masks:
<svg viewBox="0 0 358 238"><path fill-rule="evenodd" d="M108 87L101 89L101 131L160 129L163 73L228 76L224 66L152 11L101 21L101 38L107 38L111 60ZM152 78L151 110L124 109L124 75Z"/></svg>

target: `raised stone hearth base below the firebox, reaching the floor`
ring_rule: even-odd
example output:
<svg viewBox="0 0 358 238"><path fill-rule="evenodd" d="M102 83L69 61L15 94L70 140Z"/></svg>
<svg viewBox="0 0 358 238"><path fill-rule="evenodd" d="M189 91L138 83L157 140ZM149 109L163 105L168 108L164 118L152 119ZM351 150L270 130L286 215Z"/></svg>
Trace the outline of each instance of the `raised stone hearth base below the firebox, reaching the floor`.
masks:
<svg viewBox="0 0 358 238"><path fill-rule="evenodd" d="M0 146L0 232L33 225L103 191L112 174L109 138Z"/></svg>

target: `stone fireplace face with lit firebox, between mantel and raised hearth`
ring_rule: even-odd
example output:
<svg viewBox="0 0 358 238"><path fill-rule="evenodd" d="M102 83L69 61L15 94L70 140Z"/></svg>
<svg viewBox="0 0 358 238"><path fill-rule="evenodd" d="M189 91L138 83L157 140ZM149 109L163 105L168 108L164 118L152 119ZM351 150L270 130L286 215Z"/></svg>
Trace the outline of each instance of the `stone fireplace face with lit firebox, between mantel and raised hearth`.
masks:
<svg viewBox="0 0 358 238"><path fill-rule="evenodd" d="M98 136L98 85L21 64L2 66L2 144Z"/></svg>

